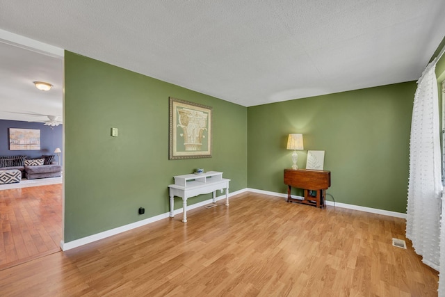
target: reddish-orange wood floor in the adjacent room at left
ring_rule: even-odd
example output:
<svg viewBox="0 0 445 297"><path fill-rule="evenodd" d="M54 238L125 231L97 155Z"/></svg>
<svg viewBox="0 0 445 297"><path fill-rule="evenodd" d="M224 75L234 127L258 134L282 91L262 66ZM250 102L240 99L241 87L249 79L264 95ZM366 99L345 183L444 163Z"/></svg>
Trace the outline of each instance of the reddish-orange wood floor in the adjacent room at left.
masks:
<svg viewBox="0 0 445 297"><path fill-rule="evenodd" d="M62 184L0 191L0 270L60 251L61 239Z"/></svg>

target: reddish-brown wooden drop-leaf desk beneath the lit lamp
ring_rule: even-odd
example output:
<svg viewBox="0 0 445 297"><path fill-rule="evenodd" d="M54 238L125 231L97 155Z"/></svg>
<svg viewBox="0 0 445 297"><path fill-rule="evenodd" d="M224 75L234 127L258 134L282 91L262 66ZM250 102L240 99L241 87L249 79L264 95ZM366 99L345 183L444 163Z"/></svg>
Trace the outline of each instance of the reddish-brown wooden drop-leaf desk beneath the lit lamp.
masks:
<svg viewBox="0 0 445 297"><path fill-rule="evenodd" d="M287 202L300 202L322 208L325 206L326 190L331 186L331 172L284 169L284 184L287 185ZM292 187L304 189L305 200L291 198ZM316 196L309 195L309 191L316 191Z"/></svg>

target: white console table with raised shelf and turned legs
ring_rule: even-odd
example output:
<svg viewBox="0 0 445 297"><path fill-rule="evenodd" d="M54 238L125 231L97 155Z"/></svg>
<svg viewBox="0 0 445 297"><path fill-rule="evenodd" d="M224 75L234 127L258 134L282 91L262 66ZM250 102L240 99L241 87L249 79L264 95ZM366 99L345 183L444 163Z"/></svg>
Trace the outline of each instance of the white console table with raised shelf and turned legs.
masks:
<svg viewBox="0 0 445 297"><path fill-rule="evenodd" d="M187 222L187 199L201 194L213 192L213 203L216 202L216 191L225 188L225 204L229 206L229 182L223 178L223 172L209 171L200 174L178 175L175 184L170 184L170 218L175 216L173 202L175 196L182 198L184 216L182 221Z"/></svg>

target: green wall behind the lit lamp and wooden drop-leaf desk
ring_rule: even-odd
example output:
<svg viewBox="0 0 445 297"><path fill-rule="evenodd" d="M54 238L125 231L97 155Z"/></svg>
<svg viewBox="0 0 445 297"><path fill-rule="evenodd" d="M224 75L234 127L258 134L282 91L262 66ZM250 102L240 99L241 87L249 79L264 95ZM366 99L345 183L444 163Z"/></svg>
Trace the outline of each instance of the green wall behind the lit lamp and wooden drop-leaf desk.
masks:
<svg viewBox="0 0 445 297"><path fill-rule="evenodd" d="M307 150L325 150L336 202L405 213L415 90L398 83L249 107L248 187L286 193L287 136L302 133L298 166Z"/></svg>

